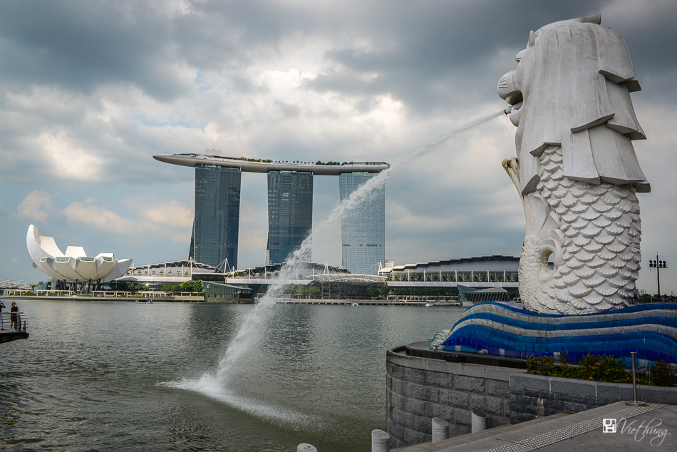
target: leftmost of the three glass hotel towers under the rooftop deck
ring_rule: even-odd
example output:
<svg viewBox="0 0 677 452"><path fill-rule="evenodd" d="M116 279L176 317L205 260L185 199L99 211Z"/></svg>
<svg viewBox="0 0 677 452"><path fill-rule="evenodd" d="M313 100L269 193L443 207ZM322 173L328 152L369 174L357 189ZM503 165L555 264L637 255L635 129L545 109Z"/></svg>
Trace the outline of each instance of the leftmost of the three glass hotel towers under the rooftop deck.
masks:
<svg viewBox="0 0 677 452"><path fill-rule="evenodd" d="M195 221L189 257L202 264L237 268L239 168L199 165L195 168Z"/></svg>

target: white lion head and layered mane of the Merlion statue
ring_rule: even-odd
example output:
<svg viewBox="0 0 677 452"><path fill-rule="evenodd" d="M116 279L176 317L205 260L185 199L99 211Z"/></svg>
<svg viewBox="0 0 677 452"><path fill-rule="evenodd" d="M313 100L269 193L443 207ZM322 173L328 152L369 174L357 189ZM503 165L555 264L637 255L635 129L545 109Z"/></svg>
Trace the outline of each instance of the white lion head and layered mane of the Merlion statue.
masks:
<svg viewBox="0 0 677 452"><path fill-rule="evenodd" d="M625 41L599 14L530 32L515 59L498 93L517 126L522 195L535 190L549 145L562 147L568 178L649 190L631 142L646 138L630 99L641 88Z"/></svg>

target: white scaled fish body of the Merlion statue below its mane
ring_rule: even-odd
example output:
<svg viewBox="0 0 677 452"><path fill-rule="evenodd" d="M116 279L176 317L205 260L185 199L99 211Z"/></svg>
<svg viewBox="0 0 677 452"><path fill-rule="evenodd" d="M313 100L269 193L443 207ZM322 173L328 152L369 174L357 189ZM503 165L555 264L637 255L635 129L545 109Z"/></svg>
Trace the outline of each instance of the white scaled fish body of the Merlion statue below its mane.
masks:
<svg viewBox="0 0 677 452"><path fill-rule="evenodd" d="M639 201L631 185L592 185L566 178L562 148L540 155L534 196L544 200L546 227L527 236L520 263L524 306L544 314L589 314L625 307L635 291L641 254ZM548 266L545 237L559 237L561 263Z"/></svg>

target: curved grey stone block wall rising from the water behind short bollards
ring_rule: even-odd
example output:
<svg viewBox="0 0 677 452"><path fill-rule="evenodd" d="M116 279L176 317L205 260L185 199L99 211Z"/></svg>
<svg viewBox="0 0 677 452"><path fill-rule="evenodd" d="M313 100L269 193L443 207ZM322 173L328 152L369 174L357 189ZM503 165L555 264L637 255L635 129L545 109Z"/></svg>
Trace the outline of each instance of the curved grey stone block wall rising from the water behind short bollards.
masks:
<svg viewBox="0 0 677 452"><path fill-rule="evenodd" d="M470 433L470 412L487 414L487 428L510 423L510 374L515 369L407 356L386 356L386 412L391 447L432 441L434 417L449 436Z"/></svg>

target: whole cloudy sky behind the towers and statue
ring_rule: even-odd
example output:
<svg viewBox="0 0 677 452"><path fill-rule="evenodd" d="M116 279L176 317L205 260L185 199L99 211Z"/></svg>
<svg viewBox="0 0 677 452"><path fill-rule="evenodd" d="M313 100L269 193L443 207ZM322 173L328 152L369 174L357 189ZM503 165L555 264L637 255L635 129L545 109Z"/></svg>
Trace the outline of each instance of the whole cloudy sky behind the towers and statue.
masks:
<svg viewBox="0 0 677 452"><path fill-rule="evenodd" d="M677 4L673 1L3 1L0 3L0 279L31 267L30 224L62 248L135 264L187 257L195 173L157 153L273 160L403 158L505 108L497 81L529 30L602 14L642 91L635 142L643 265L677 268ZM398 264L519 255L524 214L501 167L515 128L495 118L393 173L386 258ZM242 177L239 267L262 264L265 175ZM315 178L314 225L338 204ZM340 227L313 259L341 264ZM677 291L675 270L664 292ZM639 287L655 292L643 269Z"/></svg>

